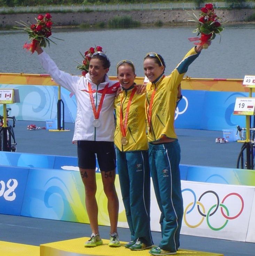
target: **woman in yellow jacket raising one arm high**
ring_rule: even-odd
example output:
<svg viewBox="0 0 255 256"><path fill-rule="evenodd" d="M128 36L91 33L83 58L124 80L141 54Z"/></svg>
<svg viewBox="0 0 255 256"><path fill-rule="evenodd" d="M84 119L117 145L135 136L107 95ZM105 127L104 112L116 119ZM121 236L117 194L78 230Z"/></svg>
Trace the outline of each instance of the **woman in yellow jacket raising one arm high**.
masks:
<svg viewBox="0 0 255 256"><path fill-rule="evenodd" d="M203 46L193 47L172 71L164 75L163 58L151 52L144 58L146 118L149 141L149 165L159 209L162 240L149 251L152 255L176 254L183 218L180 183L180 146L174 129L178 87L188 66L199 56ZM180 95L180 87L179 87Z"/></svg>

